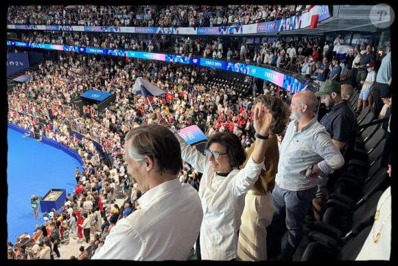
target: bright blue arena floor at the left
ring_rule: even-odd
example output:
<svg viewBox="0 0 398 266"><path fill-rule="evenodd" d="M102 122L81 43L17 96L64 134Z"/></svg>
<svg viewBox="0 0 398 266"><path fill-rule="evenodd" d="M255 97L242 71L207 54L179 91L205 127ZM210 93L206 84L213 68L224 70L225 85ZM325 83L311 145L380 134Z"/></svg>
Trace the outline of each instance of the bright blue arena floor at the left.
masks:
<svg viewBox="0 0 398 266"><path fill-rule="evenodd" d="M8 129L7 132L7 241L15 242L15 236L23 232L32 235L36 223L30 207L32 195L44 196L51 188L73 191L73 174L80 164L63 151L48 146L23 134Z"/></svg>

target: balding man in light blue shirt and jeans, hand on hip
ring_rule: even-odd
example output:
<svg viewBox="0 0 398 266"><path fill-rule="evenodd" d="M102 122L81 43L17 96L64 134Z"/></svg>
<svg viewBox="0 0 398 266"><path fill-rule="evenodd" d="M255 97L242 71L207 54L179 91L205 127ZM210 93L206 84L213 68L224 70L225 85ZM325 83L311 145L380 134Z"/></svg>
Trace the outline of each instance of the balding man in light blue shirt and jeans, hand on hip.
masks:
<svg viewBox="0 0 398 266"><path fill-rule="evenodd" d="M316 120L316 104L311 91L294 94L290 105L292 122L279 148L279 157L283 159L279 159L272 190L274 217L268 231L268 250L282 261L292 261L301 242L303 220L316 193L318 174L333 173L344 164L329 133ZM281 220L284 214L285 223ZM283 228L286 228L284 234Z"/></svg>

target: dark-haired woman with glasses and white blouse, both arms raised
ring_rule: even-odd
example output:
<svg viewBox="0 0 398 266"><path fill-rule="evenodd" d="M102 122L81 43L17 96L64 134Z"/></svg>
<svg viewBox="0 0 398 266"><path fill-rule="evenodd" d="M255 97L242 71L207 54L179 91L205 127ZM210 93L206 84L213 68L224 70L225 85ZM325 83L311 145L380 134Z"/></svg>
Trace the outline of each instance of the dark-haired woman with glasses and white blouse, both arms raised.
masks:
<svg viewBox="0 0 398 266"><path fill-rule="evenodd" d="M160 113L154 113L157 124L170 127ZM246 166L239 168L246 153L239 137L231 132L213 133L205 146L204 154L192 148L178 135L183 159L191 164L202 179L199 197L202 202L203 220L200 228L200 257L203 260L231 261L237 257L237 232L244 208L246 192L257 181L264 156L272 113L263 103L253 108L256 131L255 148ZM198 250L198 248L197 248Z"/></svg>

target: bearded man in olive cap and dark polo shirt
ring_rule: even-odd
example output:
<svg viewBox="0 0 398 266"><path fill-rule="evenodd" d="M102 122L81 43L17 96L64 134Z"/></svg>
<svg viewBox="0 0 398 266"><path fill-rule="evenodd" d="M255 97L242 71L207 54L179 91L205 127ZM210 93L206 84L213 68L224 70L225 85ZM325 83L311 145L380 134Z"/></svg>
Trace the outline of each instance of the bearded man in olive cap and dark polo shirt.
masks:
<svg viewBox="0 0 398 266"><path fill-rule="evenodd" d="M315 96L320 97L320 101L330 110L323 115L323 118L319 122L325 126L327 133L331 137L331 141L340 150L342 155L344 155L351 133L353 133L355 115L349 104L347 104L347 101L342 99L340 82L335 80L325 81L320 86L319 91L315 93ZM318 190L312 202L314 205L314 216L317 220L320 219L320 209L325 200L325 189L328 181L329 175L320 173L318 177ZM328 187L331 187L332 181L334 180L331 179L329 181Z"/></svg>

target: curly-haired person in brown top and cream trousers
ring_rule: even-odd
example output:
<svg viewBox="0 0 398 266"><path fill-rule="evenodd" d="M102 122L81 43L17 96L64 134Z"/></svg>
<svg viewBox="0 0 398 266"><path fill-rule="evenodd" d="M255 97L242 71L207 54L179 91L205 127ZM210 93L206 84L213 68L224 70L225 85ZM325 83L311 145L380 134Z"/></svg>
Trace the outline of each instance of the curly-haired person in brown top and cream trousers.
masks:
<svg viewBox="0 0 398 266"><path fill-rule="evenodd" d="M264 157L266 170L261 170L259 179L245 197L237 244L237 258L241 261L267 260L266 228L270 225L274 212L271 191L274 188L279 161L277 135L283 135L290 115L288 104L275 96L258 96L254 103L257 104L257 102L263 103L270 109L272 123ZM253 153L254 145L248 149L248 157ZM242 165L243 168L247 162L248 158Z"/></svg>

